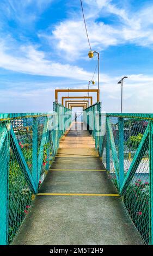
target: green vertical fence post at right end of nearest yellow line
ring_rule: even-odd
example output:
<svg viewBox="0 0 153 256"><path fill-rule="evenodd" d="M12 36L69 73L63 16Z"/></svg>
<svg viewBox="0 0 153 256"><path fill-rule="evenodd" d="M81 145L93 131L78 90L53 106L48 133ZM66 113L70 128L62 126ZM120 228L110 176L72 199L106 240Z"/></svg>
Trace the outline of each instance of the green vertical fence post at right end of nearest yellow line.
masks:
<svg viewBox="0 0 153 256"><path fill-rule="evenodd" d="M124 181L124 119L119 118L119 188Z"/></svg>

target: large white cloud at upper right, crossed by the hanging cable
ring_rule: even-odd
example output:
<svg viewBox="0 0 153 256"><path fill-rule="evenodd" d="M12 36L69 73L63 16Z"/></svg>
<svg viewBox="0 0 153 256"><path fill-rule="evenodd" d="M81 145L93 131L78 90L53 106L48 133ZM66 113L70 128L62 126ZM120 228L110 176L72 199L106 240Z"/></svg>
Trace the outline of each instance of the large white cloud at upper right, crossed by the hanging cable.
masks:
<svg viewBox="0 0 153 256"><path fill-rule="evenodd" d="M146 7L133 13L130 9L118 8L111 2L85 1L87 4L85 5L85 17L93 50L102 51L108 46L127 43L152 47L152 5L150 8ZM113 14L118 20L111 25L97 21L97 18L102 19L103 14L107 14L108 19ZM60 22L51 30L52 35L39 33L39 36L44 36L50 44L54 45L60 57L63 54L68 60L79 59L89 49L81 14Z"/></svg>

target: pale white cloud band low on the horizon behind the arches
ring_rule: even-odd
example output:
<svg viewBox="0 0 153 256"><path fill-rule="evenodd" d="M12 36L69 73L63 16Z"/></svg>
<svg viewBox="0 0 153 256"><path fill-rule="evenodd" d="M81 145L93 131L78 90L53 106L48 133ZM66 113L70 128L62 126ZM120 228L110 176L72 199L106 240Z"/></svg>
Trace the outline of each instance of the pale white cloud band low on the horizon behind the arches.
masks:
<svg viewBox="0 0 153 256"><path fill-rule="evenodd" d="M104 76L104 75L103 75ZM153 112L153 76L128 74L123 87L124 112ZM101 85L100 100L102 110L120 112L121 87L117 84L119 77L104 76ZM2 83L1 83L2 84ZM56 88L87 88L85 81L72 80L57 82L7 82L0 87L1 112L47 112L52 109L54 89ZM93 88L97 87L97 83ZM71 93L70 93L71 94ZM67 95L67 94L66 94ZM74 96L74 93L72 94ZM81 94L84 96L85 94ZM94 96L94 94L92 94ZM59 101L61 95L59 95ZM96 97L94 96L94 101ZM9 102L9 104L7 103ZM28 102L28 103L27 103Z"/></svg>

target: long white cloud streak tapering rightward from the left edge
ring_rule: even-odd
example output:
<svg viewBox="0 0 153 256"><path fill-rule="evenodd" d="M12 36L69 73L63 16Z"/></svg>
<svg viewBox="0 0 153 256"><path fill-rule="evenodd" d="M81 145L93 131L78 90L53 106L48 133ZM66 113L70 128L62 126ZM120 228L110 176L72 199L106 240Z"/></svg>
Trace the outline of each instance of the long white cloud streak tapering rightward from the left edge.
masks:
<svg viewBox="0 0 153 256"><path fill-rule="evenodd" d="M16 51L17 50L17 51ZM16 72L40 76L69 77L87 80L91 74L78 66L60 64L48 60L45 53L32 45L9 47L0 44L0 67Z"/></svg>

